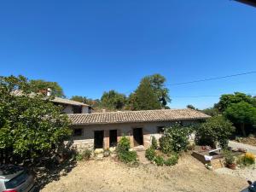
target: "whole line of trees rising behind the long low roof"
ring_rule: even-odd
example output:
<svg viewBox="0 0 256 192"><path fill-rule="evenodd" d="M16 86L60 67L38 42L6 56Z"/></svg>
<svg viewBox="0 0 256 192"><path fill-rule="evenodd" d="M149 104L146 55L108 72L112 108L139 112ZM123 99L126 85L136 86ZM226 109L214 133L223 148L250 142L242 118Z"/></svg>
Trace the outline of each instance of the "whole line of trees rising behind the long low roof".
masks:
<svg viewBox="0 0 256 192"><path fill-rule="evenodd" d="M103 92L100 100L92 100L85 96L73 96L71 99L90 104L96 111L102 108L108 111L168 108L167 104L171 99L165 83L165 77L154 74L144 77L130 96L109 90Z"/></svg>

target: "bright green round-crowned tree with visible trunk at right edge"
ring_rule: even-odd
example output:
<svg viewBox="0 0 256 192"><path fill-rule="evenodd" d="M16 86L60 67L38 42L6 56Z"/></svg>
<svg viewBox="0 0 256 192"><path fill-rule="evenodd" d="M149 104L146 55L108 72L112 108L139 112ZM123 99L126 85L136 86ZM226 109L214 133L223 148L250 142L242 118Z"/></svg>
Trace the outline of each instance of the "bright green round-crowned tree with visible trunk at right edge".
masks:
<svg viewBox="0 0 256 192"><path fill-rule="evenodd" d="M224 111L227 119L230 119L234 124L241 126L241 132L246 137L245 125L253 125L256 123L256 108L248 102L238 102L230 104Z"/></svg>

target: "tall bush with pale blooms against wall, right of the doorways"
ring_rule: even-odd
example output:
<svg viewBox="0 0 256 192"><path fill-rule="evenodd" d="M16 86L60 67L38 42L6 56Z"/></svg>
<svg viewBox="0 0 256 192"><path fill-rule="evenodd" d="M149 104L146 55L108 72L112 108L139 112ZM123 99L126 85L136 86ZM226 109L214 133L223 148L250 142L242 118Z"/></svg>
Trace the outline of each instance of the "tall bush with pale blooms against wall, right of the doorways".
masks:
<svg viewBox="0 0 256 192"><path fill-rule="evenodd" d="M166 128L164 135L160 138L160 150L165 154L186 150L191 132L192 129L178 123Z"/></svg>

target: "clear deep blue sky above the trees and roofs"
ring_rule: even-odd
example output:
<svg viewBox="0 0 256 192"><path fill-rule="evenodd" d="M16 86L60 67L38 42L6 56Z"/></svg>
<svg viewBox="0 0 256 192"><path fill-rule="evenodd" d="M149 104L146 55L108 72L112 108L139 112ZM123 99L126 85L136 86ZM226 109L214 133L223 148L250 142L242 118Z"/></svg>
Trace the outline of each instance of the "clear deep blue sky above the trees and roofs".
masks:
<svg viewBox="0 0 256 192"><path fill-rule="evenodd" d="M256 71L255 18L255 8L230 0L1 1L0 75L98 98L153 73L175 84ZM223 93L255 94L255 83L254 73L170 86L170 106L207 108Z"/></svg>

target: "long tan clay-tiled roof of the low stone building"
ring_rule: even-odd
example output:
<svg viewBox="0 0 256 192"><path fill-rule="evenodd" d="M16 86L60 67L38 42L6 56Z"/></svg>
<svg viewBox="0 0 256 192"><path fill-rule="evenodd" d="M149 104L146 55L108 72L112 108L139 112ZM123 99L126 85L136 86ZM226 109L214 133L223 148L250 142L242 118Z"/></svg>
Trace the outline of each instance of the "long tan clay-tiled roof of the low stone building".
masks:
<svg viewBox="0 0 256 192"><path fill-rule="evenodd" d="M160 109L108 113L69 114L73 125L159 122L172 120L207 119L205 113L192 109Z"/></svg>

